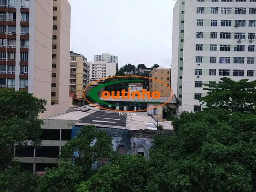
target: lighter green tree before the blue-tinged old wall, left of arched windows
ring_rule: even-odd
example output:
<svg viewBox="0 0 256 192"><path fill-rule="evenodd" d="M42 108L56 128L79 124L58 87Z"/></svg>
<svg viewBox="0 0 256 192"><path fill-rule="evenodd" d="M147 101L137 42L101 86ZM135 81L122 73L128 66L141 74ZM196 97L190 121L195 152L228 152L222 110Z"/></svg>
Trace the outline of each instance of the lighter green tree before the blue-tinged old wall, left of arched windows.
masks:
<svg viewBox="0 0 256 192"><path fill-rule="evenodd" d="M75 153L74 153L75 152ZM113 154L112 137L94 125L83 126L80 133L68 141L61 149L60 159L82 166L86 174L92 163L101 158L111 158Z"/></svg>

